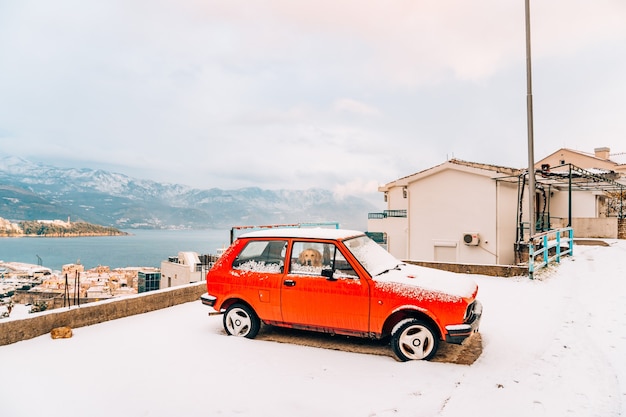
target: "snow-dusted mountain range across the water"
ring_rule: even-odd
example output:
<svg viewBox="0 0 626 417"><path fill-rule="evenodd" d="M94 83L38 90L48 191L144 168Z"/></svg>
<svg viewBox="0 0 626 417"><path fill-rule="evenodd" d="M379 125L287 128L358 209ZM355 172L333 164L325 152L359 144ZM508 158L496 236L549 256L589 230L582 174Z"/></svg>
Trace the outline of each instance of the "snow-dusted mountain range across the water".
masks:
<svg viewBox="0 0 626 417"><path fill-rule="evenodd" d="M103 170L58 168L19 157L0 158L0 217L66 219L128 228L229 228L339 222L365 230L368 212L357 197L332 191L196 189Z"/></svg>

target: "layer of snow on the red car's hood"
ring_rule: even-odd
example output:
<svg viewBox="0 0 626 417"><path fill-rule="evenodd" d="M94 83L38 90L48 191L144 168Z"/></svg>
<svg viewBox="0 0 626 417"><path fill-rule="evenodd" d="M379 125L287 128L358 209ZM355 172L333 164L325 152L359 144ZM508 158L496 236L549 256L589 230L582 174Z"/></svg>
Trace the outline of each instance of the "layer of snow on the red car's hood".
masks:
<svg viewBox="0 0 626 417"><path fill-rule="evenodd" d="M474 280L464 274L404 263L373 279L379 283L401 284L463 298L472 297L478 288Z"/></svg>

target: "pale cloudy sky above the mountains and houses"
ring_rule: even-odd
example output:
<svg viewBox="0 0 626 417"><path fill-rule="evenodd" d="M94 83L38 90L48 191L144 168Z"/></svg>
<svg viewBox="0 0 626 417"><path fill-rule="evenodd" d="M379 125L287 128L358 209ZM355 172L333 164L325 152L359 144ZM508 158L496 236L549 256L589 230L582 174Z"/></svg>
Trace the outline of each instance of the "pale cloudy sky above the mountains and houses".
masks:
<svg viewBox="0 0 626 417"><path fill-rule="evenodd" d="M535 158L626 152L626 2L531 2ZM0 0L0 152L194 187L524 167L524 0Z"/></svg>

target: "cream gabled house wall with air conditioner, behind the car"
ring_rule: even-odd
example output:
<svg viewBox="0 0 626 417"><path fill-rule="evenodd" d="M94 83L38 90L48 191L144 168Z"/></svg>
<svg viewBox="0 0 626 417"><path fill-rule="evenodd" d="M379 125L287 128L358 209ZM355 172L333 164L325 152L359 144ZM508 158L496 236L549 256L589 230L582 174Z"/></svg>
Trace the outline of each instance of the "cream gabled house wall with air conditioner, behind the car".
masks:
<svg viewBox="0 0 626 417"><path fill-rule="evenodd" d="M408 217L369 220L368 230L387 233L387 249L400 259L513 264L517 182L498 176L445 163L390 183L381 187L388 210L406 209ZM465 234L478 234L479 243L466 244Z"/></svg>

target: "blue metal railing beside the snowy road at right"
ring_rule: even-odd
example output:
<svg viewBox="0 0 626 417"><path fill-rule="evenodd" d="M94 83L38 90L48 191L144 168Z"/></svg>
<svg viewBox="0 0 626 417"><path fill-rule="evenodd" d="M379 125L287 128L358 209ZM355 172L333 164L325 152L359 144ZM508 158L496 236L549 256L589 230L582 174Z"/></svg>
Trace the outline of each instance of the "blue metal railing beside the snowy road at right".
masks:
<svg viewBox="0 0 626 417"><path fill-rule="evenodd" d="M562 247L565 244L566 249ZM552 254L551 254L552 252ZM574 254L574 229L565 227L534 235L528 242L528 277L534 278L535 267L544 268L561 257ZM541 259L539 261L538 259Z"/></svg>

